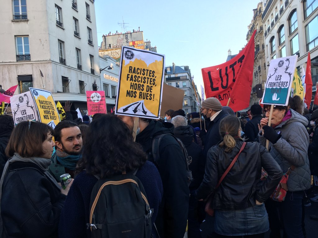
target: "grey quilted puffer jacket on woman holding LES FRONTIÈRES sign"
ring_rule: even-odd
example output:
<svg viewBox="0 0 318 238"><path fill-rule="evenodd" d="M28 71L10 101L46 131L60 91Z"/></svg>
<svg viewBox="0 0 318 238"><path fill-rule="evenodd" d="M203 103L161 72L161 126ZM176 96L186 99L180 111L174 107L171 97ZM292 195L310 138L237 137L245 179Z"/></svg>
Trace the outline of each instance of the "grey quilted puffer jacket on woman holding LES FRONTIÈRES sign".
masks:
<svg viewBox="0 0 318 238"><path fill-rule="evenodd" d="M288 177L288 191L303 191L310 188L310 169L308 160L309 136L306 130L308 120L293 109L291 118L281 122L274 129L280 131L281 138L272 144L269 142L268 151L280 165L283 173L294 165L296 168ZM266 138L259 134L259 142L266 145Z"/></svg>

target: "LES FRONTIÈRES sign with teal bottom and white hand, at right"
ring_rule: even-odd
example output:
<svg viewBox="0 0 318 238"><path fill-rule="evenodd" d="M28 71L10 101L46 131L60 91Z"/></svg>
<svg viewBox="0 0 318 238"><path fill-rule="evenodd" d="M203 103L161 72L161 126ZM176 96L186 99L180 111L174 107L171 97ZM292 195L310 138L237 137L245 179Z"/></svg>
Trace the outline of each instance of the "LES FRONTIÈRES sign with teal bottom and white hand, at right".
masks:
<svg viewBox="0 0 318 238"><path fill-rule="evenodd" d="M263 104L288 105L297 57L294 55L271 60L262 98Z"/></svg>

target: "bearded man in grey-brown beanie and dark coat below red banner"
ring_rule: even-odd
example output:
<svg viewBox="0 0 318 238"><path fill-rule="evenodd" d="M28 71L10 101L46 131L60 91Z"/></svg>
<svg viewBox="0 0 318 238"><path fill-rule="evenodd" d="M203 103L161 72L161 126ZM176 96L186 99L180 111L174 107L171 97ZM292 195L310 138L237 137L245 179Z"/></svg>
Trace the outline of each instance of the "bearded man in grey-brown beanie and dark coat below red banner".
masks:
<svg viewBox="0 0 318 238"><path fill-rule="evenodd" d="M203 153L206 159L209 149L212 146L218 144L218 142L221 140L219 124L224 117L228 116L228 114L222 111L221 102L215 97L209 97L205 99L202 102L201 111L204 117L210 119L208 120L210 122L206 128L206 133L204 130L201 130L200 132L200 138L204 144Z"/></svg>

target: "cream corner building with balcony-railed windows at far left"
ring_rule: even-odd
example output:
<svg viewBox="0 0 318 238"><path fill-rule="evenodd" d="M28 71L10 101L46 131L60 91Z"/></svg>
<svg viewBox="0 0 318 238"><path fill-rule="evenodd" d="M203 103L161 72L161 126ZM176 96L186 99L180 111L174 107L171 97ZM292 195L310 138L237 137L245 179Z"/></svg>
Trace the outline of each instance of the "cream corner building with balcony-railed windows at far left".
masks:
<svg viewBox="0 0 318 238"><path fill-rule="evenodd" d="M87 109L86 90L100 87L94 1L5 1L0 19L3 88L48 90Z"/></svg>

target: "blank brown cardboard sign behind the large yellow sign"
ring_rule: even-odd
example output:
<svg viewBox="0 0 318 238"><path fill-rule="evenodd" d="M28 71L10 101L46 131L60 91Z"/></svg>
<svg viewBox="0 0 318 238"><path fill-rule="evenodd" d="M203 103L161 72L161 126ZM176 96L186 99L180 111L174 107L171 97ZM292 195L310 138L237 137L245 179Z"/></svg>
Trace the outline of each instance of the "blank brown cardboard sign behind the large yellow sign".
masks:
<svg viewBox="0 0 318 238"><path fill-rule="evenodd" d="M162 103L161 103L161 111L160 116L164 117L165 112L169 109L179 110L182 109L183 106L183 98L184 98L184 90L178 89L168 84L163 84L162 91Z"/></svg>

